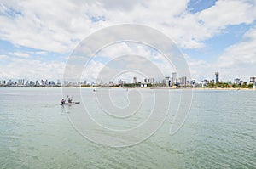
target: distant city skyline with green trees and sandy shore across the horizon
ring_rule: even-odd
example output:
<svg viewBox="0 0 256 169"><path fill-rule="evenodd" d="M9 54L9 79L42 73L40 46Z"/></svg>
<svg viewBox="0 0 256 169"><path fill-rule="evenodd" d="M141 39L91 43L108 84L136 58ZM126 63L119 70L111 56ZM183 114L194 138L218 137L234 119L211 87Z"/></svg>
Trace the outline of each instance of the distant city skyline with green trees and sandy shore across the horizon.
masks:
<svg viewBox="0 0 256 169"><path fill-rule="evenodd" d="M157 78L157 77L156 77ZM41 81L31 81L25 79L10 79L9 81L1 80L0 86L1 87L81 87L81 86L119 86L119 87L249 87L249 88L256 88L256 77L251 76L249 78L249 82L243 82L240 78L236 78L234 82L220 82L219 72L215 72L215 79L212 80L203 80L201 82L196 82L195 80L187 79L187 76L177 76L177 72L172 72L172 77L166 76L164 79L156 79L154 80L153 77L145 77L141 80L137 80L137 77L134 76L131 81L126 83L123 80L119 80L117 83L113 81L109 82L68 82L68 81L61 81L57 80L50 81L50 80L41 80ZM219 84L216 84L220 82ZM132 85L133 83L133 85ZM215 85L214 85L215 84ZM253 85L252 85L253 84Z"/></svg>

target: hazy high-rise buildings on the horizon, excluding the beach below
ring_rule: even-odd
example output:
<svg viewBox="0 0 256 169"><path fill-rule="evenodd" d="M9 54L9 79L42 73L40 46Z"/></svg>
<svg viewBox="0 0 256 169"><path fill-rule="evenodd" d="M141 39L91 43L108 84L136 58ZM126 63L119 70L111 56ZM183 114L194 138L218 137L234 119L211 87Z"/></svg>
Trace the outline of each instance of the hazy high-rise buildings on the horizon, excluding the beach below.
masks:
<svg viewBox="0 0 256 169"><path fill-rule="evenodd" d="M68 86L68 85L101 85L101 84L108 84L108 85L116 85L116 84L125 84L125 83L139 83L139 84L157 84L157 83L165 83L166 86L171 87L175 85L181 85L181 86L187 86L187 85L195 85L195 84L203 84L203 83L210 83L213 82L214 84L218 82L224 82L221 81L219 76L220 73L218 71L215 72L215 79L204 79L201 81L197 81L193 78L187 79L187 76L177 76L177 72L172 72L172 76L166 76L164 79L155 79L154 77L143 77L143 78L137 78L137 76L132 77L132 79L127 80L127 79L122 79L119 78L115 81L109 80L108 82L102 82L102 81L88 81L88 80L81 80L80 82L69 82L69 81L61 81L60 79L58 80L29 80L29 79L9 79L9 80L0 80L0 85L6 85L6 86L42 86L42 87L47 87L47 86L56 86L56 87L61 87L61 86ZM230 84L255 84L256 82L256 76L250 76L249 80L243 80L239 77L234 78L234 81L231 79L227 81L226 83ZM203 87L203 86L202 86Z"/></svg>

